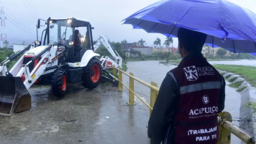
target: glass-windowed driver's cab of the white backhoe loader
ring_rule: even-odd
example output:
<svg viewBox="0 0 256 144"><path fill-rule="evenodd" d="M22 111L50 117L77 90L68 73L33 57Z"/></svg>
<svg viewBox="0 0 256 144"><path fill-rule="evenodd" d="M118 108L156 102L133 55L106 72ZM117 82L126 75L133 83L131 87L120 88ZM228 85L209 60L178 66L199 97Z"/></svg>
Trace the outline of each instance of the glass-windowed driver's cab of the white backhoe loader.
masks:
<svg viewBox="0 0 256 144"><path fill-rule="evenodd" d="M81 62L85 51L93 49L90 22L77 18L48 18L43 45L53 42L65 46L66 62Z"/></svg>

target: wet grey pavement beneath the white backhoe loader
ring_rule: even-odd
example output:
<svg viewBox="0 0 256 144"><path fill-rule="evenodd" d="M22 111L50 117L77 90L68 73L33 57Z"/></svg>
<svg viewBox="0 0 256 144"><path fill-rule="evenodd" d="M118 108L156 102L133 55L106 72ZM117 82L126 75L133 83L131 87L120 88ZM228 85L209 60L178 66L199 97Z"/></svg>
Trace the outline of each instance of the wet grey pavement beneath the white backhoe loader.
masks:
<svg viewBox="0 0 256 144"><path fill-rule="evenodd" d="M149 143L149 112L127 105L127 93L117 90L105 84L93 90L71 84L67 94L57 98L50 86L35 85L29 89L30 110L0 116L0 143Z"/></svg>

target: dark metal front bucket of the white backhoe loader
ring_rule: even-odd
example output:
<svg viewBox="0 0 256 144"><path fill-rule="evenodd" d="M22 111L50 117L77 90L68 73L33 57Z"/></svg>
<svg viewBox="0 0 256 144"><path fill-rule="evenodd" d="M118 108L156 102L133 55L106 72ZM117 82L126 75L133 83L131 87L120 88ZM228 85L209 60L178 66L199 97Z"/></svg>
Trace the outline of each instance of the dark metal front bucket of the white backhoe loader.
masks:
<svg viewBox="0 0 256 144"><path fill-rule="evenodd" d="M31 108L31 97L20 77L0 76L0 115L12 116Z"/></svg>

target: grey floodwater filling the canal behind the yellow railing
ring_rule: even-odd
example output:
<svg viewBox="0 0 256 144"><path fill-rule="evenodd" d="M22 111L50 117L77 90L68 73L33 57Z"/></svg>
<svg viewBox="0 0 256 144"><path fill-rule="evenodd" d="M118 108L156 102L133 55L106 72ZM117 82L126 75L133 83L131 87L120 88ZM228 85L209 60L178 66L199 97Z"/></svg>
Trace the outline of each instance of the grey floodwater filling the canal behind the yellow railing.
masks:
<svg viewBox="0 0 256 144"><path fill-rule="evenodd" d="M221 62L221 61L219 61ZM225 61L229 62L229 61ZM255 62L255 61L253 61ZM155 82L160 88L163 79L168 71L175 68L173 65L163 65L160 64L159 61L136 61L136 62L128 62L127 64L127 73L132 72L135 77L143 80L144 82L150 83ZM129 78L126 75L123 75L123 82L129 86ZM226 82L227 85L229 82ZM123 87L124 92L128 93L128 90ZM134 90L139 96L141 96L147 103L150 103L150 89L138 82L134 82ZM239 117L240 110L240 101L241 95L239 92L235 91L235 88L231 88L226 86L226 101L225 101L225 109L224 111L228 111L232 117ZM141 105L141 107L149 111L149 109L139 101L138 98L135 98L136 104ZM237 120L237 119L236 119ZM233 121L233 124L239 125L237 121ZM231 143L240 143L241 140L236 136L231 136Z"/></svg>

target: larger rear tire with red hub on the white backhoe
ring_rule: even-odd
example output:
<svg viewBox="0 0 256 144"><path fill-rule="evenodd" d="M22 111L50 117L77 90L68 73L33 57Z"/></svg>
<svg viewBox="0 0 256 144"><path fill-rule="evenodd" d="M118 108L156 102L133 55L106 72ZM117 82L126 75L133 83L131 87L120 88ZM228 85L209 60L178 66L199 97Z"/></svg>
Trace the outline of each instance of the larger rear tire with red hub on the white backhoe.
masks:
<svg viewBox="0 0 256 144"><path fill-rule="evenodd" d="M84 74L82 75L82 85L88 89L94 89L99 85L101 79L101 62L96 57L93 57L85 66Z"/></svg>

